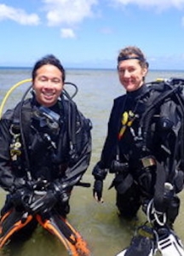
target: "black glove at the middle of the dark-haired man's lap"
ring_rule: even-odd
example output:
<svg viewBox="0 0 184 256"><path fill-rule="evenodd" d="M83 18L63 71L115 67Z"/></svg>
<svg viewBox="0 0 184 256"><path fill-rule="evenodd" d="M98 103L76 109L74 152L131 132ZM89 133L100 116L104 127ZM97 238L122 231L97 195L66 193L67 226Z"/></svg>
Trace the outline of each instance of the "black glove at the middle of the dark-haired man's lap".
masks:
<svg viewBox="0 0 184 256"><path fill-rule="evenodd" d="M46 213L50 212L57 202L57 198L52 190L44 191L43 195L35 192L34 199L30 205L33 213Z"/></svg>

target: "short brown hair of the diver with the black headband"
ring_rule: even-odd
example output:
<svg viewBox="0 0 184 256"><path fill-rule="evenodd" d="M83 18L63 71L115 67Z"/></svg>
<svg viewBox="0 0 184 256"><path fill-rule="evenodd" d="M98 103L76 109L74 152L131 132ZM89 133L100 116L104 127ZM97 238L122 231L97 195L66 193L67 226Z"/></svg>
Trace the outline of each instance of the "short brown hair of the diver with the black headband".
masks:
<svg viewBox="0 0 184 256"><path fill-rule="evenodd" d="M120 61L125 61L125 60L138 60L141 67L149 67L149 64L146 60L145 55L142 53L141 49L135 46L128 46L124 49L121 49L119 54L118 54L118 63Z"/></svg>

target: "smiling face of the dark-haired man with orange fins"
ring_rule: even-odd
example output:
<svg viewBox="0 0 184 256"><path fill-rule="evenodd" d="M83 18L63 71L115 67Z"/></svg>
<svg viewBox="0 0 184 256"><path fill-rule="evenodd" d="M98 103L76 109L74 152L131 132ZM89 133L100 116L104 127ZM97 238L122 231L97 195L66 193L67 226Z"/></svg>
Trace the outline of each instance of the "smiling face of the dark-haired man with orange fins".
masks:
<svg viewBox="0 0 184 256"><path fill-rule="evenodd" d="M37 102L44 107L52 107L63 90L62 73L54 65L46 64L37 69L32 88Z"/></svg>

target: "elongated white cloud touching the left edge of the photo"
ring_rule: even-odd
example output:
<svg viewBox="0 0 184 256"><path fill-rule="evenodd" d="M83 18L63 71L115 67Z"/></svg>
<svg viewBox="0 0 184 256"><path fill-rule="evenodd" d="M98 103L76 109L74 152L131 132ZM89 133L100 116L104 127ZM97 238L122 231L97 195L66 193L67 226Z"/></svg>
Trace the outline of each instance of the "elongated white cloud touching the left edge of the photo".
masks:
<svg viewBox="0 0 184 256"><path fill-rule="evenodd" d="M28 15L22 9L14 9L5 4L0 4L0 20L14 20L21 25L38 25L40 23L36 14Z"/></svg>

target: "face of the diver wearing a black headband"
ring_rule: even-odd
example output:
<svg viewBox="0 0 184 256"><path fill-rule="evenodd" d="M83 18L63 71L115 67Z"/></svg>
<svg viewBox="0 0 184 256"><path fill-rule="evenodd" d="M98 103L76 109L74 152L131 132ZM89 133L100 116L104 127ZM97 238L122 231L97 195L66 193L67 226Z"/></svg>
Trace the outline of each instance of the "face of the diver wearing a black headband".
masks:
<svg viewBox="0 0 184 256"><path fill-rule="evenodd" d="M118 63L119 81L126 91L139 89L146 74L147 67L141 67L138 60L130 59Z"/></svg>

